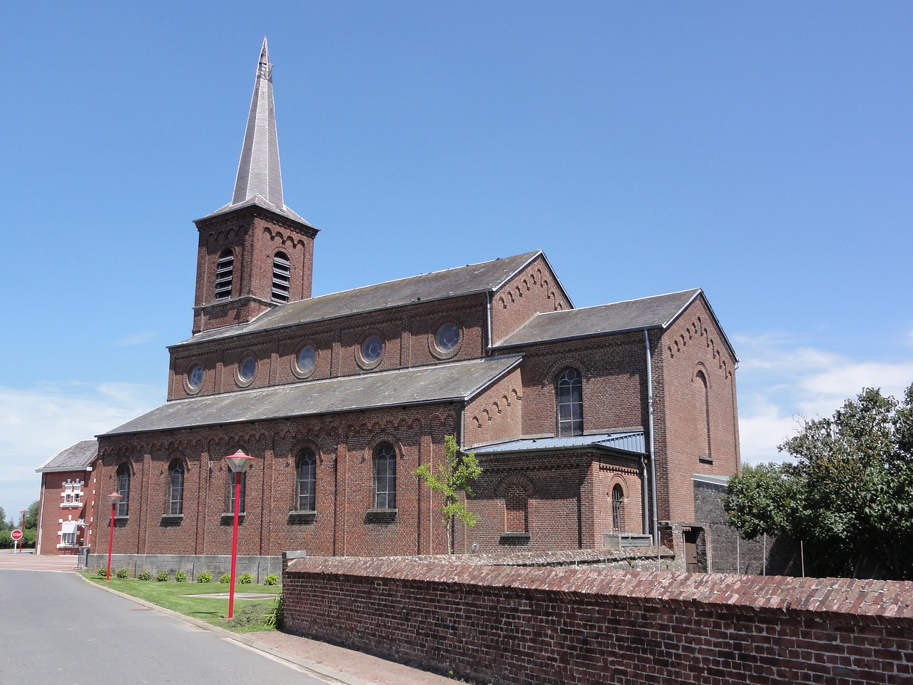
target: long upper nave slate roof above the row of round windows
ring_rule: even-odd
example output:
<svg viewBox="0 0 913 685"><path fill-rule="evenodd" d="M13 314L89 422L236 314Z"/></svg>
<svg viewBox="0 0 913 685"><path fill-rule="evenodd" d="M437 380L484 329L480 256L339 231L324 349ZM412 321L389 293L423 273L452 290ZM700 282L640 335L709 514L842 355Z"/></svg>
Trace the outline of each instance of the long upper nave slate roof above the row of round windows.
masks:
<svg viewBox="0 0 913 685"><path fill-rule="evenodd" d="M218 340L241 332L265 331L310 321L323 321L365 311L383 310L418 301L441 300L459 295L496 290L505 280L526 266L540 250L514 257L493 259L480 264L420 274L405 279L343 290L309 300L283 304L241 326L219 328L197 333L180 345Z"/></svg>

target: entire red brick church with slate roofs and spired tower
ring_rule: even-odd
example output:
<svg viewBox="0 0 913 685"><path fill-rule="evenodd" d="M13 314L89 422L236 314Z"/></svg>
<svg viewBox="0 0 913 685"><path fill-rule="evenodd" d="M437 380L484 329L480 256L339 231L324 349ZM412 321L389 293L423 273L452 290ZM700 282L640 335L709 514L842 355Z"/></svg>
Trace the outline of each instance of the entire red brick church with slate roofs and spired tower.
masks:
<svg viewBox="0 0 913 685"><path fill-rule="evenodd" d="M575 309L533 250L312 295L318 228L284 203L271 69L264 41L234 195L195 221L167 402L98 437L92 552L116 490L115 553L230 553L240 449L239 554L445 553L412 471L446 436L484 469L457 552L694 545L696 480L740 466L737 359L704 293Z"/></svg>

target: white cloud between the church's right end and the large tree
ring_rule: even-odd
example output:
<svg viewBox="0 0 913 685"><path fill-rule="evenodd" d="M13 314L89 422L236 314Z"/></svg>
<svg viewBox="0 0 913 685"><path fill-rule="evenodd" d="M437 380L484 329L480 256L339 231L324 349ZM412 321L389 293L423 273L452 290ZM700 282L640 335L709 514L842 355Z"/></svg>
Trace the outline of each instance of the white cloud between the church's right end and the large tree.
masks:
<svg viewBox="0 0 913 685"><path fill-rule="evenodd" d="M777 445L802 417L831 416L865 387L899 398L913 383L913 360L876 362L794 344L778 333L733 340L740 350L739 432L744 463L782 461Z"/></svg>

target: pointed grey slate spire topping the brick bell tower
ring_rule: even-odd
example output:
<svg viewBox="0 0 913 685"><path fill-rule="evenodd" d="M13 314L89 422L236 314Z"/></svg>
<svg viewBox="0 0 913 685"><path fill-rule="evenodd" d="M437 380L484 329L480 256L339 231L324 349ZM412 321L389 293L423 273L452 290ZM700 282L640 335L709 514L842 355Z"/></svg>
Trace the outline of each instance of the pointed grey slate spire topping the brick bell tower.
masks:
<svg viewBox="0 0 913 685"><path fill-rule="evenodd" d="M276 134L276 108L273 104L273 65L269 63L269 47L263 38L257 60L257 78L247 114L247 129L237 164L235 193L228 205L219 207L212 215L245 205L259 205L289 216L310 226L307 221L287 207L282 199L282 171L279 168L279 144Z"/></svg>

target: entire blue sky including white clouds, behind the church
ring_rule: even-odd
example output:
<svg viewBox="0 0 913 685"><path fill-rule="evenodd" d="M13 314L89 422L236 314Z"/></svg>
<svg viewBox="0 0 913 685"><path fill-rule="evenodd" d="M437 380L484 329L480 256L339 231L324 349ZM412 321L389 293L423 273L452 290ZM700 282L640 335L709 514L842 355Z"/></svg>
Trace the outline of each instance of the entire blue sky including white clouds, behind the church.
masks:
<svg viewBox="0 0 913 685"><path fill-rule="evenodd" d="M578 307L701 287L746 462L913 382L909 3L147 5L4 10L7 514L164 401L264 36L315 294L535 248Z"/></svg>

